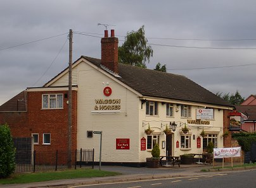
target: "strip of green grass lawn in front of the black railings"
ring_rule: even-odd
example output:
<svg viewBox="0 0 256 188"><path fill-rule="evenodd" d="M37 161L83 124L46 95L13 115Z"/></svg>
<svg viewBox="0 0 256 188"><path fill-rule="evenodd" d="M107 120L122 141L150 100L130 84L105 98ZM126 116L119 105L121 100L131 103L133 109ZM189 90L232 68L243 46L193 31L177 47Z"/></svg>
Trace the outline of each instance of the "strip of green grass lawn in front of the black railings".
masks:
<svg viewBox="0 0 256 188"><path fill-rule="evenodd" d="M113 175L120 175L120 173L93 169L63 170L56 172L15 173L9 178L0 179L0 184L26 184L30 182L44 182L50 180L89 177L105 177Z"/></svg>

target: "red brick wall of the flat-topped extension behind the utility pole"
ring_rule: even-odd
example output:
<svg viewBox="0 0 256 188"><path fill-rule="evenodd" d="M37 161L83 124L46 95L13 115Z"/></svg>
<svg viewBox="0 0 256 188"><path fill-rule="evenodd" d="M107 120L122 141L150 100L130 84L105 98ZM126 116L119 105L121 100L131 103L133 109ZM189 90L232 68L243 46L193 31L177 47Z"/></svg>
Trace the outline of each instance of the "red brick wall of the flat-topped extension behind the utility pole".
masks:
<svg viewBox="0 0 256 188"><path fill-rule="evenodd" d="M63 109L42 110L42 94L63 93ZM31 133L39 134L36 151L68 149L68 91L30 91L28 92L28 124ZM51 133L51 144L42 144L43 133ZM77 91L72 91L72 150L77 147Z"/></svg>

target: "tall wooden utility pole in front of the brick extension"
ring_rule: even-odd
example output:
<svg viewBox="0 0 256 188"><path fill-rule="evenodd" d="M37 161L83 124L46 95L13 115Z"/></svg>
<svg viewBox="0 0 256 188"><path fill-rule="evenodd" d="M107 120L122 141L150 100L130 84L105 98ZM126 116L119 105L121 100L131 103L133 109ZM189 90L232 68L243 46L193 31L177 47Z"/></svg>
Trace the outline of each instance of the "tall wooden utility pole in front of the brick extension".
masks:
<svg viewBox="0 0 256 188"><path fill-rule="evenodd" d="M72 150L72 43L73 32L69 30L69 61L68 61L68 168L71 168Z"/></svg>

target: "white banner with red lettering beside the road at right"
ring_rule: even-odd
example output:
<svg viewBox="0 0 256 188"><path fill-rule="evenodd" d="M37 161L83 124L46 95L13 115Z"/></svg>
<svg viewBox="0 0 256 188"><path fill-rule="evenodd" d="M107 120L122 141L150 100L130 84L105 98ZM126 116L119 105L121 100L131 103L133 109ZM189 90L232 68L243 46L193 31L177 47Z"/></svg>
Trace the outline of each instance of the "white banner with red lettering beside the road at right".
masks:
<svg viewBox="0 0 256 188"><path fill-rule="evenodd" d="M228 158L234 156L241 156L241 147L214 148L214 158Z"/></svg>

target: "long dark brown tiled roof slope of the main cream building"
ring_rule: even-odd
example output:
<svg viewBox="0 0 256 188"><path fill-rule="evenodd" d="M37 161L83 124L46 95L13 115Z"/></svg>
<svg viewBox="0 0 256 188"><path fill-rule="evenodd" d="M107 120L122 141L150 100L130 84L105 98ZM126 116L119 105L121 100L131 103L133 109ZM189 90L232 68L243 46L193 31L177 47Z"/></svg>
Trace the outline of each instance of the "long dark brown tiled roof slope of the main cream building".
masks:
<svg viewBox="0 0 256 188"><path fill-rule="evenodd" d="M82 56L100 68L100 59ZM118 64L117 78L146 97L167 98L186 102L233 107L229 102L217 97L202 86L178 74L163 73L151 69Z"/></svg>

